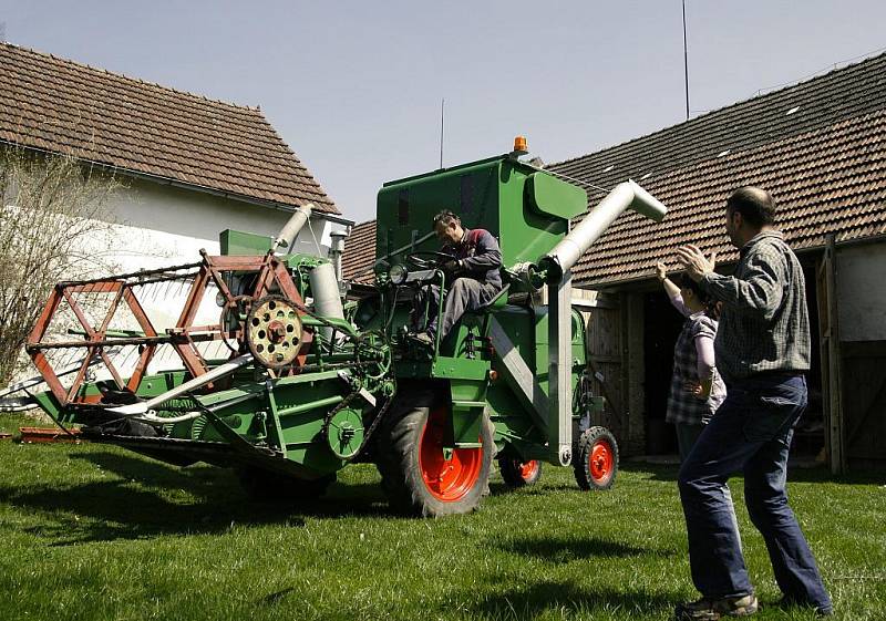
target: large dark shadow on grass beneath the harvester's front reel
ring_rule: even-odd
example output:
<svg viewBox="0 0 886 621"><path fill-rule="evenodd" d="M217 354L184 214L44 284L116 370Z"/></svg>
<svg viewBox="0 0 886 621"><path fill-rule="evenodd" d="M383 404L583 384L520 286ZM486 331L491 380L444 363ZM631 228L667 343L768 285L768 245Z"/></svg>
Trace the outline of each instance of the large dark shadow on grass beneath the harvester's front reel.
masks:
<svg viewBox="0 0 886 621"><path fill-rule="evenodd" d="M395 517L377 485L333 484L327 497L292 503L256 503L226 468L178 468L110 452L72 455L116 475L81 485L0 488L0 503L31 514L42 524L25 532L52 539L52 546L142 539L162 535L224 532L235 525L300 527L305 517Z"/></svg>

